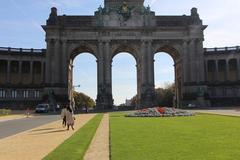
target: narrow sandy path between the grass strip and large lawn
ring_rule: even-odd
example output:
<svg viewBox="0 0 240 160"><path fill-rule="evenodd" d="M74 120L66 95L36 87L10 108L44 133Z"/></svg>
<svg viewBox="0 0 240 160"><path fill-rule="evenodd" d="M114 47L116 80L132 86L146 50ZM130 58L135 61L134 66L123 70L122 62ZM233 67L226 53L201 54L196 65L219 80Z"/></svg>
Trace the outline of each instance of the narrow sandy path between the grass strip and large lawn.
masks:
<svg viewBox="0 0 240 160"><path fill-rule="evenodd" d="M105 114L84 160L109 160L109 114Z"/></svg>

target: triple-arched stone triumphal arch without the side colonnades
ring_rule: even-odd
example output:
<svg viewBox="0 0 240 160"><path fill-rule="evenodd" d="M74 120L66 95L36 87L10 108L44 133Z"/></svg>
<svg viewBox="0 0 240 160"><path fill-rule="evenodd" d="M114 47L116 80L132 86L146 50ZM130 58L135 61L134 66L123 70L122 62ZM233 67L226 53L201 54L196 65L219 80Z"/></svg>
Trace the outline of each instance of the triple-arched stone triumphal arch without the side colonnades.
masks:
<svg viewBox="0 0 240 160"><path fill-rule="evenodd" d="M190 16L156 16L144 0L105 0L94 16L59 16L52 8L46 31L45 92L71 95L72 62L83 52L97 59L97 106L111 108L113 57L128 52L137 62L139 106L155 102L154 54L166 52L175 63L176 102L183 93L205 90L203 31L196 8ZM87 67L87 66L85 66ZM127 72L126 72L127 74Z"/></svg>

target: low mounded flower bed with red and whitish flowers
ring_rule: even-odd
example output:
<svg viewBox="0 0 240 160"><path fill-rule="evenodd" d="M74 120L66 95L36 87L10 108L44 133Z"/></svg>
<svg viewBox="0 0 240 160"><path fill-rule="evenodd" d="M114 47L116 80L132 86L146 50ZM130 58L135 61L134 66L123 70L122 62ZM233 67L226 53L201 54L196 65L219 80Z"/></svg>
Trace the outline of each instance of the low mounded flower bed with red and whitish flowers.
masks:
<svg viewBox="0 0 240 160"><path fill-rule="evenodd" d="M155 107L137 110L129 113L126 117L176 117L176 116L194 116L195 114L189 111L168 108L168 107Z"/></svg>

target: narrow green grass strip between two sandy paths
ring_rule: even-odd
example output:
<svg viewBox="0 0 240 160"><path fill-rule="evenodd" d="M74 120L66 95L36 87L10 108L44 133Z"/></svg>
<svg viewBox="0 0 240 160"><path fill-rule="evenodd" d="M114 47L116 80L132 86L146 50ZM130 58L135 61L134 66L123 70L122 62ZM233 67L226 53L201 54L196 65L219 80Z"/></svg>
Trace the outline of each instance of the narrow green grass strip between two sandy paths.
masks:
<svg viewBox="0 0 240 160"><path fill-rule="evenodd" d="M44 160L81 160L88 149L91 140L99 126L103 115L98 114L74 135L47 155Z"/></svg>

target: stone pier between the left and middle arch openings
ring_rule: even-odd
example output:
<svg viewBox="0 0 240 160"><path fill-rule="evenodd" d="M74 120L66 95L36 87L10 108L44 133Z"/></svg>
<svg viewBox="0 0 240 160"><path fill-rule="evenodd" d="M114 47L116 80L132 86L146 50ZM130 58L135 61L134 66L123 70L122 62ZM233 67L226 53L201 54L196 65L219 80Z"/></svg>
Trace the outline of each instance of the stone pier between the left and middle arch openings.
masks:
<svg viewBox="0 0 240 160"><path fill-rule="evenodd" d="M103 53L105 52L105 53ZM110 42L98 42L98 93L96 100L97 109L111 109L113 107L112 98L112 69L110 57Z"/></svg>

